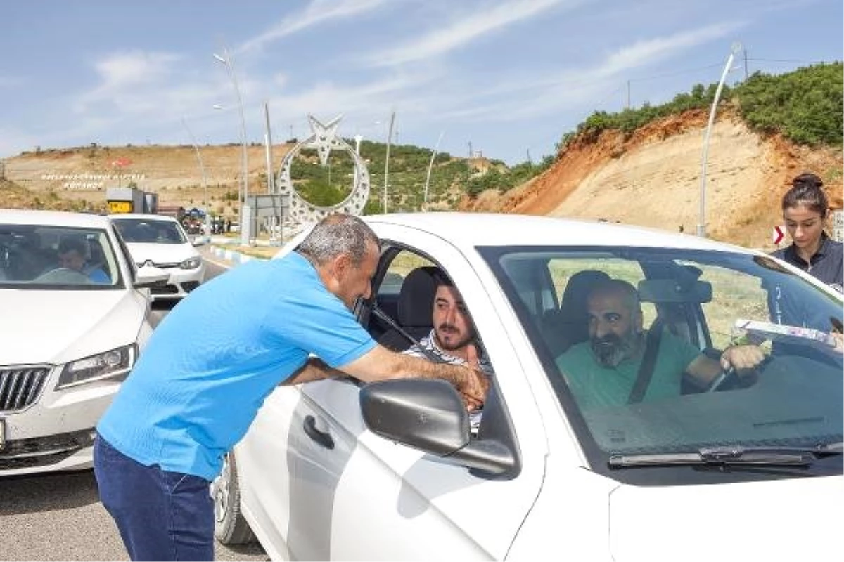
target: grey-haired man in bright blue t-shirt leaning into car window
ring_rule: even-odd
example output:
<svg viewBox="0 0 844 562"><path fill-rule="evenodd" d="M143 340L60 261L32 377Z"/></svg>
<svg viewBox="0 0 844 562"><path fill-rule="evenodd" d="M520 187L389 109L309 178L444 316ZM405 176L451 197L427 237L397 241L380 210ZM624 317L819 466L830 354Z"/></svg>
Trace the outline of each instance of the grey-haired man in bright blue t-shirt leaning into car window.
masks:
<svg viewBox="0 0 844 562"><path fill-rule="evenodd" d="M213 559L210 481L279 383L442 378L483 402L481 372L388 351L357 323L351 311L370 297L378 260L365 222L331 215L294 253L208 281L158 326L94 450L100 499L133 561Z"/></svg>

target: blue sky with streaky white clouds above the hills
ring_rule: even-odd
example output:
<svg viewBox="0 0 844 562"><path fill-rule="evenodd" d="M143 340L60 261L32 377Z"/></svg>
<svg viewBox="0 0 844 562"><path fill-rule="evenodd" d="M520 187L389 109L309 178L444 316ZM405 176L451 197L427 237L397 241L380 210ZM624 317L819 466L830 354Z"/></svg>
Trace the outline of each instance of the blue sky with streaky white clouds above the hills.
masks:
<svg viewBox="0 0 844 562"><path fill-rule="evenodd" d="M844 58L841 0L146 0L3 10L0 157L36 146L239 142L339 132L518 163L593 110ZM744 55L729 82L744 77ZM214 105L222 105L221 110Z"/></svg>

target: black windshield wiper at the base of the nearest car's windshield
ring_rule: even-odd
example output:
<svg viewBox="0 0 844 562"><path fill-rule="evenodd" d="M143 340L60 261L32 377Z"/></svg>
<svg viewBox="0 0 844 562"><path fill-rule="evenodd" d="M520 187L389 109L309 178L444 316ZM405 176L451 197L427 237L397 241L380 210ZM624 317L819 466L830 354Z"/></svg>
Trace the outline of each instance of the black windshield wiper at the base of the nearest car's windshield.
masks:
<svg viewBox="0 0 844 562"><path fill-rule="evenodd" d="M757 464L809 466L819 455L844 452L835 448L809 447L701 447L694 452L662 452L639 455L610 455L610 468L665 466L671 464Z"/></svg>

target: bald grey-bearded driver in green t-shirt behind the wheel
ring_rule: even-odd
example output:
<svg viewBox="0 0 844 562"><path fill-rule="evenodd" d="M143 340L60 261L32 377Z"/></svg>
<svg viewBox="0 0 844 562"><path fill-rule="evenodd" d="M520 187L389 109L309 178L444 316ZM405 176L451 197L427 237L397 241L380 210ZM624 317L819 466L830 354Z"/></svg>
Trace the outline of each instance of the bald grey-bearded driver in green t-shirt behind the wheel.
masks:
<svg viewBox="0 0 844 562"><path fill-rule="evenodd" d="M684 376L706 389L723 371L733 368L742 376L765 359L755 345L728 347L716 359L663 330L648 367L649 338L636 287L619 279L598 281L587 302L589 340L557 358L582 409L676 397Z"/></svg>

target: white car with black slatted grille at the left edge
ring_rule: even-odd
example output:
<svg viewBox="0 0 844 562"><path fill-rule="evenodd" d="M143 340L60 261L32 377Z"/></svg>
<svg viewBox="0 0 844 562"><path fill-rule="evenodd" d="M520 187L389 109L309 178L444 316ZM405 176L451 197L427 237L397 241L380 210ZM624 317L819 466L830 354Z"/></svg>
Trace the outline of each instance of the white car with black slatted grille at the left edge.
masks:
<svg viewBox="0 0 844 562"><path fill-rule="evenodd" d="M0 476L89 468L94 427L152 328L107 217L0 210Z"/></svg>

